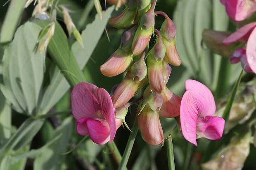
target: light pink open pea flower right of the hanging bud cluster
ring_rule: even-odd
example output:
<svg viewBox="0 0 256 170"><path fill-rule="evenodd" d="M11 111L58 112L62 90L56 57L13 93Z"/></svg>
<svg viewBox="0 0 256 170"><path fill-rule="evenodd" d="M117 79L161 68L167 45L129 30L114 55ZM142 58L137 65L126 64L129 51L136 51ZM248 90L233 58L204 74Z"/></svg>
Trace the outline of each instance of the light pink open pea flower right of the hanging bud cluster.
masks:
<svg viewBox="0 0 256 170"><path fill-rule="evenodd" d="M216 106L211 91L196 80L186 80L180 103L180 124L185 139L197 145L197 138L221 138L225 120L212 116Z"/></svg>

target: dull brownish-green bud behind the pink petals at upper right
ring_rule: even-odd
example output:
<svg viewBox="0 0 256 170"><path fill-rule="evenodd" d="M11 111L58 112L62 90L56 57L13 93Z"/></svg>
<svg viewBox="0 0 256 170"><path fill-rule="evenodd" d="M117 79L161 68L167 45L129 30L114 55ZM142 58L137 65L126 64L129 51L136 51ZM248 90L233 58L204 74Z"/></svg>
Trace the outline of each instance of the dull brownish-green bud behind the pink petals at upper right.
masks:
<svg viewBox="0 0 256 170"><path fill-rule="evenodd" d="M223 46L222 41L229 37L231 32L204 30L203 41L213 51L213 53L219 54L224 57L229 57L235 50L237 43L230 43L227 46Z"/></svg>

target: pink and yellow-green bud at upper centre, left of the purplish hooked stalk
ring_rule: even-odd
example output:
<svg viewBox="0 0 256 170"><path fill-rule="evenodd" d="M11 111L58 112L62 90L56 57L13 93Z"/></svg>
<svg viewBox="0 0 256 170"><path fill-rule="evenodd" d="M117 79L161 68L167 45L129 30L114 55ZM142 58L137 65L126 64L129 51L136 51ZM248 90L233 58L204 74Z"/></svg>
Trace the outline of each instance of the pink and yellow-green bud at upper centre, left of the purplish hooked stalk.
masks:
<svg viewBox="0 0 256 170"><path fill-rule="evenodd" d="M154 26L149 30L146 30L145 27L137 28L132 43L133 55L139 55L145 50L145 48L149 44L149 40L153 31Z"/></svg>

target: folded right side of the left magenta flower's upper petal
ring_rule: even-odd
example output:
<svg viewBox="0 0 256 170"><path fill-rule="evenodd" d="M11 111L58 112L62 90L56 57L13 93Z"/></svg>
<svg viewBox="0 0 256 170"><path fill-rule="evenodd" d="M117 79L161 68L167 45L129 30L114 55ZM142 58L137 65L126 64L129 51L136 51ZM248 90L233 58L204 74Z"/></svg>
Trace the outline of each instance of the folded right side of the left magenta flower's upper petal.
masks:
<svg viewBox="0 0 256 170"><path fill-rule="evenodd" d="M116 119L115 119L114 106L109 93L105 89L100 88L98 90L97 97L99 100L101 113L103 114L107 123L109 124L109 129L110 129L109 142L112 142L116 135Z"/></svg>

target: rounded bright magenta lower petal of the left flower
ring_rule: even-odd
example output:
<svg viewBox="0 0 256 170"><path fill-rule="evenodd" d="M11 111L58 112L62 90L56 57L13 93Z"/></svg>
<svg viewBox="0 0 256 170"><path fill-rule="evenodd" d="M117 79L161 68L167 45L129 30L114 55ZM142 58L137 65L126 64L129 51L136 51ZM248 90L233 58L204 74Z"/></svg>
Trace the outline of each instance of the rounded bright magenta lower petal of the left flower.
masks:
<svg viewBox="0 0 256 170"><path fill-rule="evenodd" d="M109 126L105 120L100 122L95 119L86 120L86 125L88 128L88 133L93 142L103 145L107 143L110 139Z"/></svg>

